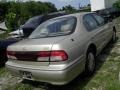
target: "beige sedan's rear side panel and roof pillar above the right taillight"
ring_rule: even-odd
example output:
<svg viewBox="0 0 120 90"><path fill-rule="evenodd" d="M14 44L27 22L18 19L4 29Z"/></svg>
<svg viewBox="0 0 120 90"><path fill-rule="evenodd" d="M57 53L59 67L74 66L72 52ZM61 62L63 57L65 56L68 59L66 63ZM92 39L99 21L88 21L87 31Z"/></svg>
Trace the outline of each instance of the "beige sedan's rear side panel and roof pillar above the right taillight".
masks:
<svg viewBox="0 0 120 90"><path fill-rule="evenodd" d="M88 35L84 26L82 25L82 18L77 17L77 25L75 31L61 42L54 43L52 50L64 50L68 54L69 60L64 62L67 64L85 62L85 50L87 46ZM83 59L84 58L84 59ZM61 63L61 62L60 62ZM55 63L51 63L55 64ZM84 67L84 66L83 66Z"/></svg>

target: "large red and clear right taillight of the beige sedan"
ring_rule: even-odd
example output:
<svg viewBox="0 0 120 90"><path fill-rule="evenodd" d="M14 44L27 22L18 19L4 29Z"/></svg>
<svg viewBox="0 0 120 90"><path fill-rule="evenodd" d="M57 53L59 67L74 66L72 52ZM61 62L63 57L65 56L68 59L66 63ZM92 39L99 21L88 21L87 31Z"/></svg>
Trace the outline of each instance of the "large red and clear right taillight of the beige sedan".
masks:
<svg viewBox="0 0 120 90"><path fill-rule="evenodd" d="M48 61L48 60L50 62L66 61L68 60L68 55L63 50L41 51L38 53L37 61Z"/></svg>

